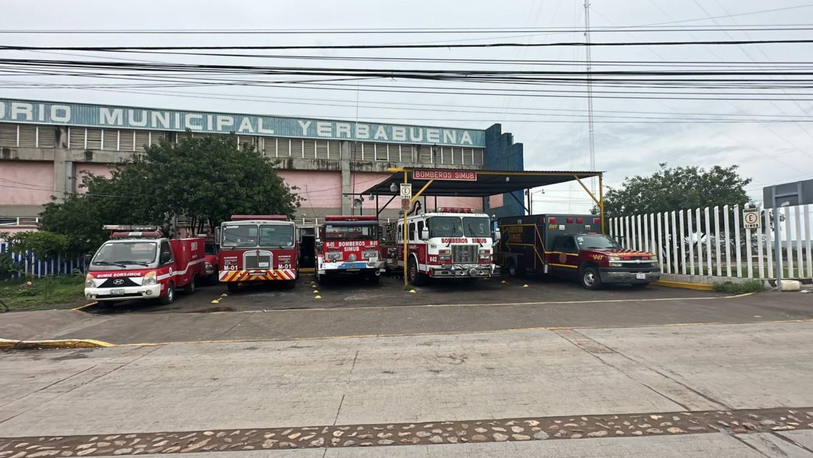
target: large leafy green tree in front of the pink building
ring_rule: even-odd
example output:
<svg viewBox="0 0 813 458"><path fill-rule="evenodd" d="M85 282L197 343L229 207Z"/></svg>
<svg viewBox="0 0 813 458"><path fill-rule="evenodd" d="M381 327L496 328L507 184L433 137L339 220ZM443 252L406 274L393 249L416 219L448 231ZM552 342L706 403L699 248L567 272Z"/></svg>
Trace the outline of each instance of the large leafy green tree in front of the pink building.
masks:
<svg viewBox="0 0 813 458"><path fill-rule="evenodd" d="M111 177L85 173L85 193L48 203L41 229L66 234L72 250L86 253L107 238L105 224L169 230L175 216L211 228L232 214L293 216L300 198L275 165L254 146L238 147L234 135L163 141L111 166Z"/></svg>

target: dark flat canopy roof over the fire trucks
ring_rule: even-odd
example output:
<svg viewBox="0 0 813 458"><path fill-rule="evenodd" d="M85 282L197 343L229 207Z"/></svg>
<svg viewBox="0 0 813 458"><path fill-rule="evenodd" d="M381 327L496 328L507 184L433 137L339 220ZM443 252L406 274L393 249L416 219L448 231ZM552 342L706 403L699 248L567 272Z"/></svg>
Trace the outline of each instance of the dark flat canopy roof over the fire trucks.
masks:
<svg viewBox="0 0 813 458"><path fill-rule="evenodd" d="M390 168L389 172L394 172L377 185L373 185L361 194L367 195L398 195L398 190L393 192L390 186L395 184L396 188L404 181L406 173L407 181L415 187L421 188L430 181L429 179L414 179L413 170L447 170L437 168ZM455 169L448 169L453 171ZM528 190L537 186L555 185L567 181L582 180L589 177L600 177L602 172L585 171L541 171L528 170L524 172L509 170L472 170L476 172L476 180L452 181L436 179L431 186L428 186L422 195L424 196L451 196L451 197L488 197L494 194L512 193L515 191Z"/></svg>

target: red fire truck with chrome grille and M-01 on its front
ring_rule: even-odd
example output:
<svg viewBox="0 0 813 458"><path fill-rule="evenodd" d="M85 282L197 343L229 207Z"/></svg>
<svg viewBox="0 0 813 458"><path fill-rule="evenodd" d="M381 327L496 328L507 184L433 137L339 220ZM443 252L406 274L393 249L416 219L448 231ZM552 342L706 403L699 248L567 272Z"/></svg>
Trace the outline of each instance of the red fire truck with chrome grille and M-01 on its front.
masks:
<svg viewBox="0 0 813 458"><path fill-rule="evenodd" d="M259 281L293 288L299 277L297 226L285 215L232 215L220 225L219 259L218 277L230 292Z"/></svg>

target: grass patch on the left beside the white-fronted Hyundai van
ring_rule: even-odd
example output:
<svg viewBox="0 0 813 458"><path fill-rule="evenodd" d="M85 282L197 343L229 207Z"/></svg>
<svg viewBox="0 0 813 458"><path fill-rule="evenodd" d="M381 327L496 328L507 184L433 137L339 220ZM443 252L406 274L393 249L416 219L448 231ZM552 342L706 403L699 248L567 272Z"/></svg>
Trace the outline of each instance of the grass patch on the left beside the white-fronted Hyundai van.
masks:
<svg viewBox="0 0 813 458"><path fill-rule="evenodd" d="M0 300L8 307L0 305L0 312L73 308L86 302L85 281L69 275L33 278L30 285L25 280L0 281Z"/></svg>

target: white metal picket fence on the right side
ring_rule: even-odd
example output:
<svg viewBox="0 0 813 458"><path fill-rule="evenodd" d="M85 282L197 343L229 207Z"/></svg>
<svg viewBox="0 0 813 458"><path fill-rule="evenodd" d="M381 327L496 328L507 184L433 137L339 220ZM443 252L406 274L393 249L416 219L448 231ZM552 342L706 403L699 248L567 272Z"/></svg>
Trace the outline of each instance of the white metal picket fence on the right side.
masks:
<svg viewBox="0 0 813 458"><path fill-rule="evenodd" d="M626 248L657 255L664 273L763 280L776 278L779 234L782 277L813 277L809 207L781 207L776 226L776 212L757 208L756 229L743 229L739 205L724 205L608 218L606 232Z"/></svg>

